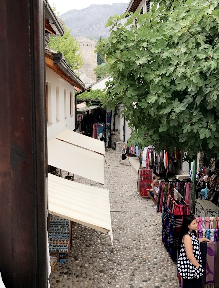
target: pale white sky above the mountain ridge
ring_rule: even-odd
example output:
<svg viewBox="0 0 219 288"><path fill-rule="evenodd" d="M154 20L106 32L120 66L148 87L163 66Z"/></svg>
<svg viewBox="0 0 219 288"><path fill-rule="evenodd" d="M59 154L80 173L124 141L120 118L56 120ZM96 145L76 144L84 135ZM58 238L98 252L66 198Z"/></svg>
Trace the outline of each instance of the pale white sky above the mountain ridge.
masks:
<svg viewBox="0 0 219 288"><path fill-rule="evenodd" d="M113 3L129 3L130 0L49 0L51 7L56 5L56 12L60 15L72 10L89 7L91 4L113 4ZM54 5L55 4L55 5Z"/></svg>

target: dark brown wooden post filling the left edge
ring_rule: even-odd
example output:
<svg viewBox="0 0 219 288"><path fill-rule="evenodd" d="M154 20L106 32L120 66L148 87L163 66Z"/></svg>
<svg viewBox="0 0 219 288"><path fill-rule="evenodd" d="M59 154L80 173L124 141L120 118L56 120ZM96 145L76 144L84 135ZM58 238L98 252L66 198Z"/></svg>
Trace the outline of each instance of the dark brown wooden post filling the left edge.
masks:
<svg viewBox="0 0 219 288"><path fill-rule="evenodd" d="M0 271L6 288L47 287L44 7L0 2Z"/></svg>

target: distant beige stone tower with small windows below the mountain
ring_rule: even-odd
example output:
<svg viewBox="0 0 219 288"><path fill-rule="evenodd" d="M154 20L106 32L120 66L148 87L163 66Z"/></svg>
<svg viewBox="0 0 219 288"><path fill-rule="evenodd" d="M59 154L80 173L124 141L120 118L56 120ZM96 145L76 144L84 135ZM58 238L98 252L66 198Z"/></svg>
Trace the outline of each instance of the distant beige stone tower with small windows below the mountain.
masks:
<svg viewBox="0 0 219 288"><path fill-rule="evenodd" d="M95 46L97 44L96 40L90 40L85 37L76 37L80 44L80 52L84 57L84 65L79 72L85 73L87 77L97 81L97 76L93 69L97 67L97 54L94 53Z"/></svg>

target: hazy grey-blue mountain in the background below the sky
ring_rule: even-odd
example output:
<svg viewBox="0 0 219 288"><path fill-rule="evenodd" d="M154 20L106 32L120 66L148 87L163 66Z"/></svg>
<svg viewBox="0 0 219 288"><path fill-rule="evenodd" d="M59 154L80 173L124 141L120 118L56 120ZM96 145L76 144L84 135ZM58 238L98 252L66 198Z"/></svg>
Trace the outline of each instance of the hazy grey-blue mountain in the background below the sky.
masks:
<svg viewBox="0 0 219 288"><path fill-rule="evenodd" d="M113 3L112 5L92 4L82 10L69 10L62 14L68 29L71 29L72 36L83 36L90 39L99 39L109 36L109 27L105 28L110 16L123 14L128 3Z"/></svg>

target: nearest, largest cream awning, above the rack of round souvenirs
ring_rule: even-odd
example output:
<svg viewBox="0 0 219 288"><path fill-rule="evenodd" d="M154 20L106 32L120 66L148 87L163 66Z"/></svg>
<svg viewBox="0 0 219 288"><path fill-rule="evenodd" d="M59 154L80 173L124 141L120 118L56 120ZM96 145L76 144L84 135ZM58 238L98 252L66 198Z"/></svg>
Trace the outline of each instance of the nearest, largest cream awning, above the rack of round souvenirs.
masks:
<svg viewBox="0 0 219 288"><path fill-rule="evenodd" d="M48 174L49 213L109 234L109 190Z"/></svg>

